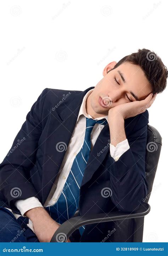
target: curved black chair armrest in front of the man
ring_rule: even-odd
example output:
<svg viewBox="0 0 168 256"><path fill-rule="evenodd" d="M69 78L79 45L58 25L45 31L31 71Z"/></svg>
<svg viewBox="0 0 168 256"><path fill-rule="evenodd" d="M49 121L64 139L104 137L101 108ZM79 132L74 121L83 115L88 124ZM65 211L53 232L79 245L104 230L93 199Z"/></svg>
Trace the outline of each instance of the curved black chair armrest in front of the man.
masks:
<svg viewBox="0 0 168 256"><path fill-rule="evenodd" d="M147 215L150 212L150 205L142 203L140 207L133 213L125 213L123 211L113 211L111 213L98 213L89 214L84 216L76 216L69 220L66 220L61 226L55 231L50 242L66 242L68 237L80 226L107 222L114 220L140 218Z"/></svg>

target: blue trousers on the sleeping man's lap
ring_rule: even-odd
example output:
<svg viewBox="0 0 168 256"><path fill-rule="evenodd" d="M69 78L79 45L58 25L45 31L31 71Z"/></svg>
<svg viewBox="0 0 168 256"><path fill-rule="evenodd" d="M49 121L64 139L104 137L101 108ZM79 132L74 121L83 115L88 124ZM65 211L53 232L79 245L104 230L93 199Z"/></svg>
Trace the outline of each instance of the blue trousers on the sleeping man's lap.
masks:
<svg viewBox="0 0 168 256"><path fill-rule="evenodd" d="M20 216L18 219L6 209L0 207L0 242L39 242L34 232L27 226L29 218ZM69 239L79 242L79 230L75 230Z"/></svg>

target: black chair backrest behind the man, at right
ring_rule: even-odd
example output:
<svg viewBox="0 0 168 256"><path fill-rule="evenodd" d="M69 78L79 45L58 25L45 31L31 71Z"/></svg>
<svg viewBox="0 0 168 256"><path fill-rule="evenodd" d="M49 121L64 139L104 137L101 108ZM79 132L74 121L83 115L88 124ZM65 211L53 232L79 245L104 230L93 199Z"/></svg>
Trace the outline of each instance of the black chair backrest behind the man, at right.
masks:
<svg viewBox="0 0 168 256"><path fill-rule="evenodd" d="M148 183L148 195L144 202L148 203L157 170L162 146L162 137L155 127L147 125L147 142L145 154L145 172ZM113 242L142 242L144 217L115 221L121 229L115 231Z"/></svg>

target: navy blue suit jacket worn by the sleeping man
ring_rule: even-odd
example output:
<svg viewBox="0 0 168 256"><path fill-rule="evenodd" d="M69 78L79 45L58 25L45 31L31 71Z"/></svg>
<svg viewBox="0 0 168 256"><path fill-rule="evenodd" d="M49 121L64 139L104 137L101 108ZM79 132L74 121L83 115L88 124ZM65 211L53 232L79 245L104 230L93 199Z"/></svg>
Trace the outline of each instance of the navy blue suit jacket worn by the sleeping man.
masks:
<svg viewBox="0 0 168 256"><path fill-rule="evenodd" d="M20 214L14 205L18 199L37 197L44 205L66 152L58 152L56 144L65 142L68 146L83 97L93 88L84 91L49 88L43 90L16 135L11 153L9 151L0 164L1 206L10 207ZM149 113L146 110L125 119L125 134L130 148L116 162L110 156L109 126L107 124L103 127L84 172L80 188L80 215L116 210L131 213L146 197L148 185L145 179L145 152L148 118ZM23 137L24 141L16 148L18 140L21 141ZM13 197L13 188L19 188L19 197ZM104 188L111 189L109 197L102 196ZM83 241L101 240L104 237L102 234L107 233L110 228L113 228L112 222L86 225Z"/></svg>

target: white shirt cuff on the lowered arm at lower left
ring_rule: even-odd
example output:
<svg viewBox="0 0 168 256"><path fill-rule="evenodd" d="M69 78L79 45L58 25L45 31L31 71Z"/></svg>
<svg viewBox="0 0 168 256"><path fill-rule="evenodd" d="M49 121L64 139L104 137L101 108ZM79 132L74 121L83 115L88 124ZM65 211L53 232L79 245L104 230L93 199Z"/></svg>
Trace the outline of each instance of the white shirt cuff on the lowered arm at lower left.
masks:
<svg viewBox="0 0 168 256"><path fill-rule="evenodd" d="M21 215L23 217L26 217L26 215L24 215L26 211L36 207L43 207L43 205L40 203L37 197L29 197L27 199L17 200L15 202L15 206L21 212Z"/></svg>

